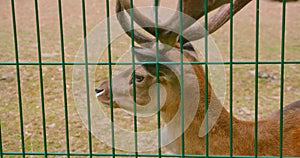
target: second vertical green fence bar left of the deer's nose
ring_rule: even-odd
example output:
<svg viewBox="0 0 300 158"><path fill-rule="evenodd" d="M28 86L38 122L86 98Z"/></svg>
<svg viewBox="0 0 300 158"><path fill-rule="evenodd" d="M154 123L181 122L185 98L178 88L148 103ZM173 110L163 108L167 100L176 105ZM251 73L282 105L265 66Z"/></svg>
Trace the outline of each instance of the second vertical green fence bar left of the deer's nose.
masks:
<svg viewBox="0 0 300 158"><path fill-rule="evenodd" d="M63 18L62 18L62 4L61 0L58 0L58 14L59 14L59 30L60 30L60 49L61 49L61 62L62 62L62 79L63 79L63 91L64 91L64 113L65 113L65 127L66 127L66 149L67 157L70 157L70 136L69 136L69 117L68 117L68 95L67 95L67 83L66 83L66 65L65 65L65 46L64 46L64 30L63 30Z"/></svg>

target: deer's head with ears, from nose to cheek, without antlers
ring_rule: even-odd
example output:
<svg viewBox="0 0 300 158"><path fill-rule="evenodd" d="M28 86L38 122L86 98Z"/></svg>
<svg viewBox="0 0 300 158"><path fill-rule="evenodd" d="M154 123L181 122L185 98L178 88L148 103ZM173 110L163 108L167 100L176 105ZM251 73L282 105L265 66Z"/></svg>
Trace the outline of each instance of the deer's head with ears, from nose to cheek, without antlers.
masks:
<svg viewBox="0 0 300 158"><path fill-rule="evenodd" d="M177 48L173 48L167 52L161 53L158 56L159 62L179 62L179 60L176 60L180 59L179 52L180 51ZM127 111L133 111L133 84L135 84L135 102L137 104L138 113L154 114L157 112L156 85L159 83L160 108L162 112L170 109L172 109L172 111L174 110L174 113L172 114L172 116L174 116L180 104L180 65L153 64L156 61L156 53L148 48L135 47L134 53L137 60L139 62L145 62L145 64L136 65L135 74L132 73L132 68L129 68L117 76L114 76L112 80L113 106ZM185 58L185 62L191 59L195 60L192 55L187 56L187 58ZM159 68L159 78L156 77L157 66ZM183 73L184 80L189 80L189 82L185 82L184 85L185 97L193 95L195 98L198 98L200 94L196 72L192 66L185 65ZM95 89L95 91L100 102L104 104L110 103L110 89L108 81L103 81L100 86ZM195 100L186 104L198 105L198 102L195 102ZM172 117L170 116L170 118Z"/></svg>

